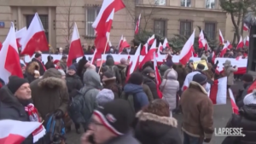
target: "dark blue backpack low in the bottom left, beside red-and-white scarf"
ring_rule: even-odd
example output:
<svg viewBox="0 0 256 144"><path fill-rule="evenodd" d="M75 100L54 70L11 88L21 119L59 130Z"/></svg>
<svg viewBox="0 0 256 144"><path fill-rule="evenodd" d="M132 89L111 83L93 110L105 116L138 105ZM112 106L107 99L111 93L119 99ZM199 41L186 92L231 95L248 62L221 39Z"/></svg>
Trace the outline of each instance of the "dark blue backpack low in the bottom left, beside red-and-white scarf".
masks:
<svg viewBox="0 0 256 144"><path fill-rule="evenodd" d="M60 144L66 140L65 124L62 118L55 118L53 113L47 114L44 124L49 143Z"/></svg>

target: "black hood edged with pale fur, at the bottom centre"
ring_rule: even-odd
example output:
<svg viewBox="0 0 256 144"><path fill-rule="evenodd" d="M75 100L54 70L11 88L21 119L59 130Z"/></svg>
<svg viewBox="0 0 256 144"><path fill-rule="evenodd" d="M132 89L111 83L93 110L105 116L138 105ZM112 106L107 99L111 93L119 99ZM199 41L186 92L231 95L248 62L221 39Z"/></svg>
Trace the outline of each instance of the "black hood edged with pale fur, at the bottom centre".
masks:
<svg viewBox="0 0 256 144"><path fill-rule="evenodd" d="M159 139L171 129L177 129L177 120L175 118L160 117L149 112L137 112L137 129L150 139Z"/></svg>

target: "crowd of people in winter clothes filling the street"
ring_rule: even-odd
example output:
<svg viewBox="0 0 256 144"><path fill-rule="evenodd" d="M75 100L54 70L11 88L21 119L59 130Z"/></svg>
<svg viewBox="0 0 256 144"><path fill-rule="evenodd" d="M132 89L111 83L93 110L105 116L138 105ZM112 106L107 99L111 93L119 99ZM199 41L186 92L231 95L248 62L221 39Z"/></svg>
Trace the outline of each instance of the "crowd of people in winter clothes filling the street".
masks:
<svg viewBox="0 0 256 144"><path fill-rule="evenodd" d="M227 55L231 53L232 50ZM227 88L230 88L237 71L237 66L226 60L224 72L216 74L218 61L212 62L209 51L201 54L201 60L207 61L207 70L201 64L195 68L193 60L186 66L174 64L172 56L168 55L159 66L163 96L160 98L151 61L128 76L129 60L122 58L115 65L112 55L107 56L101 67L85 57L78 62L73 60L73 64L67 66L67 55L64 54L61 60L53 60L49 55L45 64L40 53L36 53L30 62L23 56L20 60L24 61L20 63L24 78L10 76L8 84L1 82L0 119L32 121L26 107L33 107L44 127L49 114L53 114L55 118L63 119L66 133L71 131L72 124L78 134L84 131L82 144L209 142L214 123L213 104L207 96L209 85L214 79L227 77ZM236 95L240 115L233 114L227 127L242 127L246 136L228 136L223 144L256 141L256 96L247 93L253 84L253 76L247 73L241 80L244 90ZM188 87L184 86L185 81L189 81ZM183 114L183 140L173 113ZM36 143L49 144L66 138L44 135ZM33 135L30 135L22 144L32 143Z"/></svg>

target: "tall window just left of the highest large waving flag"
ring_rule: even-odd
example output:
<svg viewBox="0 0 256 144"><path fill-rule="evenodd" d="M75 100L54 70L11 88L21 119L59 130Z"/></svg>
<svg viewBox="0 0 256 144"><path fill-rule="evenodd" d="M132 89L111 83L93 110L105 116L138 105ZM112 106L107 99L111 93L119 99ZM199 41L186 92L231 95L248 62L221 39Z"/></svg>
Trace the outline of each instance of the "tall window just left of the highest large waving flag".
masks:
<svg viewBox="0 0 256 144"><path fill-rule="evenodd" d="M92 27L93 22L96 20L97 14L99 14L99 7L89 7L86 9L86 36L95 37L95 31Z"/></svg>

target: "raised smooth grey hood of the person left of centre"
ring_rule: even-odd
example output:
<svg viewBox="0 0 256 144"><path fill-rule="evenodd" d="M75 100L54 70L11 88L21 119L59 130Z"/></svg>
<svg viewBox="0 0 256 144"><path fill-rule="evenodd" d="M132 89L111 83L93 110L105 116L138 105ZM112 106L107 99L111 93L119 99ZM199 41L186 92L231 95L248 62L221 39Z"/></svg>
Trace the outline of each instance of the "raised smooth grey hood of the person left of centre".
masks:
<svg viewBox="0 0 256 144"><path fill-rule="evenodd" d="M100 75L94 70L87 70L84 72L84 84L96 89L102 89Z"/></svg>

